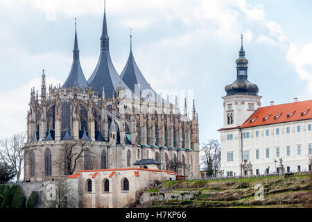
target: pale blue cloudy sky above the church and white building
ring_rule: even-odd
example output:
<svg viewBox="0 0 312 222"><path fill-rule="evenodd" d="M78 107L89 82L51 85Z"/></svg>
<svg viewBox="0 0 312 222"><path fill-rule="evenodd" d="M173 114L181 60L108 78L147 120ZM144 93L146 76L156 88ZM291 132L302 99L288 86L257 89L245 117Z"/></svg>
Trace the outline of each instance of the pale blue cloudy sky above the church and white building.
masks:
<svg viewBox="0 0 312 222"><path fill-rule="evenodd" d="M110 53L120 74L132 28L132 51L148 83L157 92L188 92L190 112L193 95L202 144L223 127L222 97L236 79L241 32L262 106L311 99L311 8L310 0L107 0ZM100 52L103 0L0 0L0 138L26 131L42 69L47 85L66 80L74 17L88 79ZM183 110L183 95L179 101Z"/></svg>

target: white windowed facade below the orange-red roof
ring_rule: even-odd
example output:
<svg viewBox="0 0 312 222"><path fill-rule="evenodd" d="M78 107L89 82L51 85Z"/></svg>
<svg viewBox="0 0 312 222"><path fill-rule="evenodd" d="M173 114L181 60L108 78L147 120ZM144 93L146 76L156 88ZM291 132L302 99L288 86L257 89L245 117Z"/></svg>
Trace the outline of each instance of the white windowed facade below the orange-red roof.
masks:
<svg viewBox="0 0 312 222"><path fill-rule="evenodd" d="M245 118L245 121L248 118ZM245 159L251 162L254 175L277 173L279 158L282 158L286 172L311 170L311 126L312 119L309 119L221 130L223 176L241 176L241 163Z"/></svg>

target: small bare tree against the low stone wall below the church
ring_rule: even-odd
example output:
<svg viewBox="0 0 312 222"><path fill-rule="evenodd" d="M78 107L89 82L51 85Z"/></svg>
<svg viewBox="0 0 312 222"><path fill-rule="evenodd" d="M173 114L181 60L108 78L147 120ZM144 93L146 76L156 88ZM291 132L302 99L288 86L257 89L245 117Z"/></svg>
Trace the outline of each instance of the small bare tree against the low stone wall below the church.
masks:
<svg viewBox="0 0 312 222"><path fill-rule="evenodd" d="M58 208L66 207L67 195L71 190L71 186L67 183L67 179L62 178L55 182L56 206Z"/></svg>

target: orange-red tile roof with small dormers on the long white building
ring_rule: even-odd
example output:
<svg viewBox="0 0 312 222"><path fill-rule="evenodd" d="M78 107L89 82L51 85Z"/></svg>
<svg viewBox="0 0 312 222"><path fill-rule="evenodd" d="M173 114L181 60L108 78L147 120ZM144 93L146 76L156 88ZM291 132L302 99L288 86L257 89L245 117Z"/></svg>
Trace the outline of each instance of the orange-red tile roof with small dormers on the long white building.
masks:
<svg viewBox="0 0 312 222"><path fill-rule="evenodd" d="M312 119L312 100L259 108L241 128Z"/></svg>

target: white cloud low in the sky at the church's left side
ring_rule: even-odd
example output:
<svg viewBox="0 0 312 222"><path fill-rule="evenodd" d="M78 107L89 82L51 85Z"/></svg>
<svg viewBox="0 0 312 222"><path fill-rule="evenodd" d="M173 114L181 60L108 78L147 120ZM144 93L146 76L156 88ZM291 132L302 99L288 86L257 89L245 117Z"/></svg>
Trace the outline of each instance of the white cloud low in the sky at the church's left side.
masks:
<svg viewBox="0 0 312 222"><path fill-rule="evenodd" d="M60 80L55 77L46 78L48 86L58 83ZM26 132L28 103L33 87L41 88L41 78L34 78L22 87L0 94L0 101L5 104L0 106L1 137L11 137L13 134Z"/></svg>

